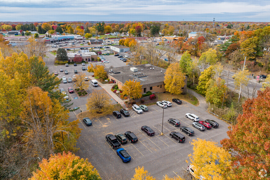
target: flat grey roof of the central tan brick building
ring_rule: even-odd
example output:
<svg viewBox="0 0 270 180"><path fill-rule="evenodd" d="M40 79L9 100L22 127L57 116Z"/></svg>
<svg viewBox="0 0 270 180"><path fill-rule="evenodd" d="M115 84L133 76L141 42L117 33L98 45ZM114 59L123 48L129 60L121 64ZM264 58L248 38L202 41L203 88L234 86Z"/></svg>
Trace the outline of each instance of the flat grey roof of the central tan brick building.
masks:
<svg viewBox="0 0 270 180"><path fill-rule="evenodd" d="M131 71L130 70L131 67L137 68L138 71L137 72ZM111 69L112 69L112 73L111 72L109 73L109 70L111 71ZM151 64L141 64L141 65L134 65L134 66L108 68L108 69L105 69L105 71L107 72L107 74L110 74L112 77L114 77L115 79L117 79L120 82L122 82L122 77L123 77L124 82L134 79L136 81L140 81L141 85L145 85L145 84L153 84L153 83L157 83L157 82L163 82L164 76L165 76L164 73L166 72L166 69L163 69L163 68L160 68L157 66L153 66ZM143 76L143 75L142 76L141 75L134 76L133 75L133 74L141 74L141 73L143 73L143 75L146 75L146 76Z"/></svg>

